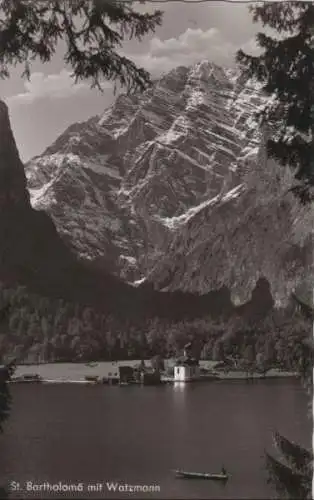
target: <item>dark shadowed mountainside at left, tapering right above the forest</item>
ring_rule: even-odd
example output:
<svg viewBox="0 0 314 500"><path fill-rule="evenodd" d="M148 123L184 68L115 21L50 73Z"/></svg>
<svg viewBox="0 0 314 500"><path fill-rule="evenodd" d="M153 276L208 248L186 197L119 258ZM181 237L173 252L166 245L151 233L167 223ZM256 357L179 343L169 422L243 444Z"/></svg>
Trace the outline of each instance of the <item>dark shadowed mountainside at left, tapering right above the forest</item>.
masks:
<svg viewBox="0 0 314 500"><path fill-rule="evenodd" d="M108 260L104 266L102 261L79 258L60 236L49 213L31 206L8 108L1 101L0 137L0 283L26 285L43 296L64 298L127 318L182 318L233 310L226 287L202 297L160 293L149 284L134 288L108 271ZM63 194L66 196L66 191Z"/></svg>

